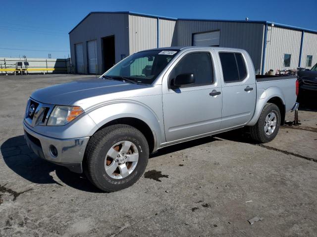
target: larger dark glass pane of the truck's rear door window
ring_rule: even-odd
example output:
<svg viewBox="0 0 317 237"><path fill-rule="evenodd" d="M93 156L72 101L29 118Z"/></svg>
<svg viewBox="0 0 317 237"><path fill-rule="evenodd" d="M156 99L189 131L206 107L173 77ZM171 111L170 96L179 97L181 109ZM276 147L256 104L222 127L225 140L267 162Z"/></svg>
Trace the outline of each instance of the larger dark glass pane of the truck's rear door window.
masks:
<svg viewBox="0 0 317 237"><path fill-rule="evenodd" d="M219 53L223 80L226 83L239 81L238 68L234 53Z"/></svg>

